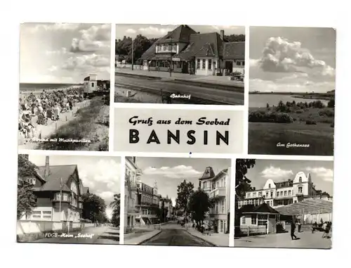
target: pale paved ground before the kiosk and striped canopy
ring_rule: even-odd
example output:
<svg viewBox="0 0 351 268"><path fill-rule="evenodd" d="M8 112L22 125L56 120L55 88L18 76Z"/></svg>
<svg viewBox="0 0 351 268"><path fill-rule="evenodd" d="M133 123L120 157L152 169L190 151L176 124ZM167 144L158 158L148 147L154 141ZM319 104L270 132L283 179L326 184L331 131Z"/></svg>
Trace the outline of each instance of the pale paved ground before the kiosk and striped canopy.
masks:
<svg viewBox="0 0 351 268"><path fill-rule="evenodd" d="M300 239L291 240L290 233L244 236L234 240L235 247L260 248L331 248L331 239L322 238L322 232L295 233Z"/></svg>

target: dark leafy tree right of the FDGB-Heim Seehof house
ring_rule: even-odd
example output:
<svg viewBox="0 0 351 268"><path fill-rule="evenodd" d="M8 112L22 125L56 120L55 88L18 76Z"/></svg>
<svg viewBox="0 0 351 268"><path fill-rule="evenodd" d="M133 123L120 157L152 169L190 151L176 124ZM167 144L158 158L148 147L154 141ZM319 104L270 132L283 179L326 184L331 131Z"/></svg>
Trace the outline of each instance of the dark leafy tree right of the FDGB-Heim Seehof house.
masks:
<svg viewBox="0 0 351 268"><path fill-rule="evenodd" d="M90 219L91 222L100 222L100 220L103 220L101 215L105 214L105 200L93 193L84 193L81 198L83 200L82 217L84 219Z"/></svg>

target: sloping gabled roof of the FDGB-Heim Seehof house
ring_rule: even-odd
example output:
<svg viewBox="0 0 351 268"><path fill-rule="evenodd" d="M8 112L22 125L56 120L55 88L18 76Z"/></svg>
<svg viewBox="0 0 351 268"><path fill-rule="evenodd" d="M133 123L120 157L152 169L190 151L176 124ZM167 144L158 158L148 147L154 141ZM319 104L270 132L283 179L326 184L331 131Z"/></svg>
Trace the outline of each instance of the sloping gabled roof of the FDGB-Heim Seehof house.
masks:
<svg viewBox="0 0 351 268"><path fill-rule="evenodd" d="M45 166L38 168L39 174L41 177L44 177ZM44 177L46 184L41 187L40 191L60 191L61 178L63 183L62 191L70 191L67 182L76 169L77 165L51 165L48 177Z"/></svg>

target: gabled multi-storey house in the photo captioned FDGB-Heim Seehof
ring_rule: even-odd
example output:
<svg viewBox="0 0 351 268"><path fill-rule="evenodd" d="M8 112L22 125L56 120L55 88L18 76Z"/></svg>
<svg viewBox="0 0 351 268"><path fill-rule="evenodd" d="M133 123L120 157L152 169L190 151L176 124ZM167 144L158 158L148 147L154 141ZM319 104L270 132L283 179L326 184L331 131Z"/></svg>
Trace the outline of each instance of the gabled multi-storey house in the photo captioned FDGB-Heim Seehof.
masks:
<svg viewBox="0 0 351 268"><path fill-rule="evenodd" d="M33 185L36 207L21 219L50 222L80 222L83 201L88 192L79 179L77 165L46 165L38 167L34 176L24 178Z"/></svg>

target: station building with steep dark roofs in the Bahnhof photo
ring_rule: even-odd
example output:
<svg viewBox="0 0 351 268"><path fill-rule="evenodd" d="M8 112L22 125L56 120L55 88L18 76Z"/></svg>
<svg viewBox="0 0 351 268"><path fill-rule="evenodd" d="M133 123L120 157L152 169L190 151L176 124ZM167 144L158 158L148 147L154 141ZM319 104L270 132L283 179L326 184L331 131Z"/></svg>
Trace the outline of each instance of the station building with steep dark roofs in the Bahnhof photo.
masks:
<svg viewBox="0 0 351 268"><path fill-rule="evenodd" d="M224 30L201 34L180 25L154 42L140 57L144 70L194 75L244 74L245 42L228 42Z"/></svg>

